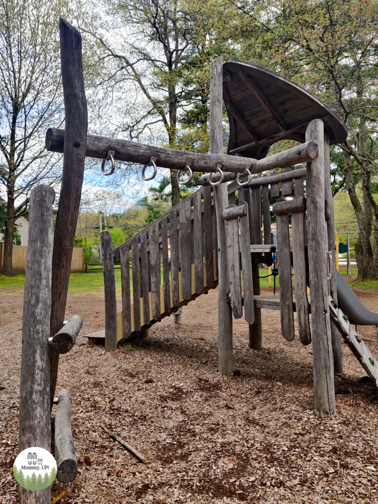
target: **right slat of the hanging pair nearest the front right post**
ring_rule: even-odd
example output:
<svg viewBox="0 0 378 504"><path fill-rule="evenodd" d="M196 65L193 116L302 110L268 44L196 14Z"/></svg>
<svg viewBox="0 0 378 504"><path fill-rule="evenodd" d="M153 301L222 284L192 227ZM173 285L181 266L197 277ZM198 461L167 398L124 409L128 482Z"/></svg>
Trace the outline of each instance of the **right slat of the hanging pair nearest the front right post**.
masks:
<svg viewBox="0 0 378 504"><path fill-rule="evenodd" d="M295 306L297 313L297 326L299 341L303 345L311 343L311 331L308 320L308 301L306 285L306 258L304 254L304 212L292 212L291 214L291 237L293 246L293 270ZM281 286L281 281L280 281ZM281 287L280 287L281 291Z"/></svg>

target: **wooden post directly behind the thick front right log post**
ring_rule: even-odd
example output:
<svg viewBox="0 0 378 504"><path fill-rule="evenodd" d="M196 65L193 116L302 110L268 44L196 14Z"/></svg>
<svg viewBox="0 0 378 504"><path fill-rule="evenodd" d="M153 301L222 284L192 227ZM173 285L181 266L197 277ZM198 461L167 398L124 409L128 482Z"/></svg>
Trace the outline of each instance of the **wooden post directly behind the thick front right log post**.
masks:
<svg viewBox="0 0 378 504"><path fill-rule="evenodd" d="M324 133L324 197L327 200L328 212L331 217L327 221L327 234L328 234L328 250L332 251L332 268L334 271L331 277L330 287L331 296L337 303L337 286L336 286L336 242L335 242L335 220L334 220L334 205L331 187L331 164L330 164L330 140L327 133ZM332 352L333 364L335 373L343 372L343 347L341 345L341 337L336 326L331 323L332 334Z"/></svg>

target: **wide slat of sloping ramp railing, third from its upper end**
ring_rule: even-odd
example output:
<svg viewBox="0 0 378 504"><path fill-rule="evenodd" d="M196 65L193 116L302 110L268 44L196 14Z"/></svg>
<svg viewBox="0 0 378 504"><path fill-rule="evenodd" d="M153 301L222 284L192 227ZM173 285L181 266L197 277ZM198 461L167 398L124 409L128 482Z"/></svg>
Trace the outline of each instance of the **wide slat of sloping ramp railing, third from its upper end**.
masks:
<svg viewBox="0 0 378 504"><path fill-rule="evenodd" d="M184 299L192 297L191 225L191 200L186 198L180 206L181 291Z"/></svg>

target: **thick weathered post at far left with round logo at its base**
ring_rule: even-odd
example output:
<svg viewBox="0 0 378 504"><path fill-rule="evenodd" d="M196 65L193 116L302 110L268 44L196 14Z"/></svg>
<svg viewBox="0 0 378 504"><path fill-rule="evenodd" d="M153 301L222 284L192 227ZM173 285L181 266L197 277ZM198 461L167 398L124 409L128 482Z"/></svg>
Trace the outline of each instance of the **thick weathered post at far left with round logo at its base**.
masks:
<svg viewBox="0 0 378 504"><path fill-rule="evenodd" d="M49 346L54 190L38 185L30 194L20 383L19 451L51 445ZM21 504L51 504L50 487L26 490Z"/></svg>

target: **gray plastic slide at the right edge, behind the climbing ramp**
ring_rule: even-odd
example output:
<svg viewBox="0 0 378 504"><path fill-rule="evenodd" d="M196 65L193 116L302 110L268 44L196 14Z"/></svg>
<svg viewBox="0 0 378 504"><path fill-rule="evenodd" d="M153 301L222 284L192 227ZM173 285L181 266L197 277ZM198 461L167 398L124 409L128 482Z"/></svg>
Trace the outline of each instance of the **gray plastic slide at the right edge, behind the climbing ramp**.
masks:
<svg viewBox="0 0 378 504"><path fill-rule="evenodd" d="M378 311L370 311L364 306L341 274L336 270L337 301L350 322L358 326L377 326Z"/></svg>

